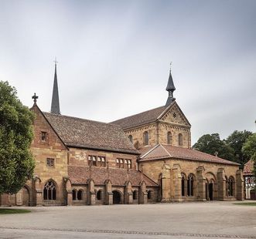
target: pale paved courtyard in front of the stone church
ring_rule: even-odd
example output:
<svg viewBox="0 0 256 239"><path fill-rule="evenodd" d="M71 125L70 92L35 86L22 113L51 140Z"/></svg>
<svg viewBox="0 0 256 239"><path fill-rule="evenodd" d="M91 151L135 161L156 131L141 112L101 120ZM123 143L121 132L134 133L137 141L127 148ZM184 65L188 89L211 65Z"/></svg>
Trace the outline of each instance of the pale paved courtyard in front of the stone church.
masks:
<svg viewBox="0 0 256 239"><path fill-rule="evenodd" d="M256 238L256 207L234 201L29 209L0 215L0 238Z"/></svg>

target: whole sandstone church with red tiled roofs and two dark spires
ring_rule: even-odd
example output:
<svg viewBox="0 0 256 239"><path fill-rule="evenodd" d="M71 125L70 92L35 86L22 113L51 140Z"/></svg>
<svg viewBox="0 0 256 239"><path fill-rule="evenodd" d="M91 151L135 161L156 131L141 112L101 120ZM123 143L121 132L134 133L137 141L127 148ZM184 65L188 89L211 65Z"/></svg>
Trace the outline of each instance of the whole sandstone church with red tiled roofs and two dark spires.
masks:
<svg viewBox="0 0 256 239"><path fill-rule="evenodd" d="M243 200L239 164L191 149L190 123L173 97L111 123L60 114L56 64L50 113L33 96L34 177L0 205L147 204Z"/></svg>

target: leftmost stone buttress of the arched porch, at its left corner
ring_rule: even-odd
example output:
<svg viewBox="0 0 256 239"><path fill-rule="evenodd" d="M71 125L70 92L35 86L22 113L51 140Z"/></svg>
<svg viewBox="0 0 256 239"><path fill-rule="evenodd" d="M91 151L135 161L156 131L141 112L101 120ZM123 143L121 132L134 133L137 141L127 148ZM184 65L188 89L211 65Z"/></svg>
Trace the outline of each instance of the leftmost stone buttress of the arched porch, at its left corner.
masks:
<svg viewBox="0 0 256 239"><path fill-rule="evenodd" d="M162 203L171 200L171 167L164 164L162 167Z"/></svg>

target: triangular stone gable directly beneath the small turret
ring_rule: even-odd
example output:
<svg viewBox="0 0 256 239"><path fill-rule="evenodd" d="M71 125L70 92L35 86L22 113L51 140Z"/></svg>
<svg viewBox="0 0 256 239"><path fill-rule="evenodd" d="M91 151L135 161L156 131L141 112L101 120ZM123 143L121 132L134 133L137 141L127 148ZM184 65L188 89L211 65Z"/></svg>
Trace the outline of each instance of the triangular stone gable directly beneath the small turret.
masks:
<svg viewBox="0 0 256 239"><path fill-rule="evenodd" d="M191 126L189 120L186 119L183 111L179 108L178 104L174 102L171 106L166 108L166 111L163 112L159 119L166 123L174 123L183 126Z"/></svg>

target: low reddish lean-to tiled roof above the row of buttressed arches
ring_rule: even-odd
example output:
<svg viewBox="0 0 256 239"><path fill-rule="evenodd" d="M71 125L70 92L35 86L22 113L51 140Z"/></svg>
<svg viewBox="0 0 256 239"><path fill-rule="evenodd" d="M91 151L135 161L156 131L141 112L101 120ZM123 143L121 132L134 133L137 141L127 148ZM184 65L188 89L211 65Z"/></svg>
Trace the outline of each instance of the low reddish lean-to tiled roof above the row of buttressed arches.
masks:
<svg viewBox="0 0 256 239"><path fill-rule="evenodd" d="M105 180L109 179L114 186L124 186L128 180L131 181L132 186L138 186L142 180L145 181L146 186L158 186L157 183L137 170L128 172L127 169L85 166L68 166L67 169L71 183L74 184L85 184L91 178L97 185L103 185Z"/></svg>

